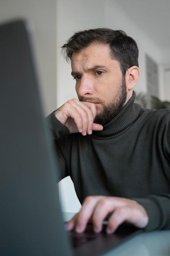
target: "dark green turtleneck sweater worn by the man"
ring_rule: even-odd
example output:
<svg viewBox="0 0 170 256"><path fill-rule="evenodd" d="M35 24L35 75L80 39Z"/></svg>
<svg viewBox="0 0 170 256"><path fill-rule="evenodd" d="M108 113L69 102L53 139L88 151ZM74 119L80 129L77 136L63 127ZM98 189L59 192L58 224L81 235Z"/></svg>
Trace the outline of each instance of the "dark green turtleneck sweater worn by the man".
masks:
<svg viewBox="0 0 170 256"><path fill-rule="evenodd" d="M46 117L59 180L70 175L82 203L88 195L132 198L146 209L146 231L170 228L170 110L142 109L132 98L102 131L70 134Z"/></svg>

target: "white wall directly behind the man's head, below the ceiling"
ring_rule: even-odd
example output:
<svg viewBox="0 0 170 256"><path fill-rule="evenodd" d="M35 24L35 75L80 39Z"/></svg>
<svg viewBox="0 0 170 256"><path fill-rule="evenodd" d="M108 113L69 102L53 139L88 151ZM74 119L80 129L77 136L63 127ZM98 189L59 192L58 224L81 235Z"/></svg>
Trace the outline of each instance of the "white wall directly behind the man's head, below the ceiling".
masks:
<svg viewBox="0 0 170 256"><path fill-rule="evenodd" d="M122 29L137 41L141 77L137 91L146 92L146 63L148 54L158 64L170 59L170 51L163 52L120 9L114 0L58 0L57 1L57 106L76 96L75 83L71 77L71 66L60 56L60 47L75 32L95 27ZM170 61L169 61L170 62ZM69 177L60 182L63 211L77 212L80 204Z"/></svg>

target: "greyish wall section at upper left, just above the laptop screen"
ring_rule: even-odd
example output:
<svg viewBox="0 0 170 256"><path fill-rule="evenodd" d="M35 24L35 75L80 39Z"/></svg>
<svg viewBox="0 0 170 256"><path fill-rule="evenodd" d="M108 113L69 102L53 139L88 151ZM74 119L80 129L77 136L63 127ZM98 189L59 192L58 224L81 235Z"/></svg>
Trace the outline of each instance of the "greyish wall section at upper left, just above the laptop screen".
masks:
<svg viewBox="0 0 170 256"><path fill-rule="evenodd" d="M14 18L34 25L32 39L47 115L56 108L56 0L0 0L0 23Z"/></svg>

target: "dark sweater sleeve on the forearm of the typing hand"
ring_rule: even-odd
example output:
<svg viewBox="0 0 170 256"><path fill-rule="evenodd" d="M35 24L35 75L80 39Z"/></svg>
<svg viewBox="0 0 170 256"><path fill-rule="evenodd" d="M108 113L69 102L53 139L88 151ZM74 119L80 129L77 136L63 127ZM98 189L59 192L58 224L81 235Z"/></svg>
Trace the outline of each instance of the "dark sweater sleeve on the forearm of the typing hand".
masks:
<svg viewBox="0 0 170 256"><path fill-rule="evenodd" d="M148 213L149 222L145 231L170 229L170 194L149 195L147 198L134 198Z"/></svg>

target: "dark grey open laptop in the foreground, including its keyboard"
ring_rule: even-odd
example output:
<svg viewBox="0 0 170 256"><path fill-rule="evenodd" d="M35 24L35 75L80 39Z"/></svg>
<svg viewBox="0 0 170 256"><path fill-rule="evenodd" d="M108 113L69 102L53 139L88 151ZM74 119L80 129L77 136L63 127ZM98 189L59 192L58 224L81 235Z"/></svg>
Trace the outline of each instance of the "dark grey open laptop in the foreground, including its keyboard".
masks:
<svg viewBox="0 0 170 256"><path fill-rule="evenodd" d="M28 22L0 25L0 255L103 255L142 231L65 230L32 49Z"/></svg>

